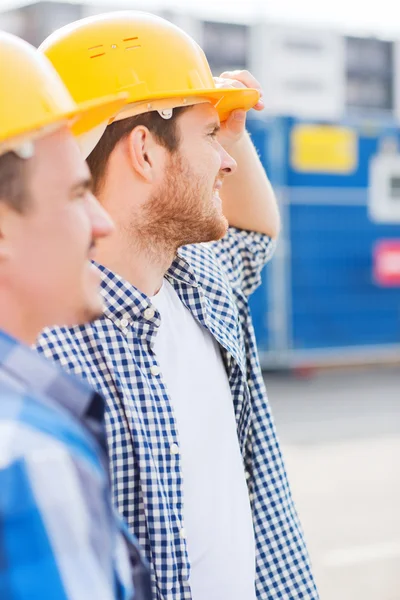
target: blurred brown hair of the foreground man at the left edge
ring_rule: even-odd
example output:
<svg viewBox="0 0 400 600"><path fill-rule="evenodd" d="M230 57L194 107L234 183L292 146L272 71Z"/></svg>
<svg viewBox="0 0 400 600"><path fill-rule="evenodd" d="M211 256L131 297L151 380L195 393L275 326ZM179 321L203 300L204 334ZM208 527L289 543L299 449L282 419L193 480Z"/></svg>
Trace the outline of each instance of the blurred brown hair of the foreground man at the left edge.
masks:
<svg viewBox="0 0 400 600"><path fill-rule="evenodd" d="M28 205L26 160L15 152L0 155L0 202L23 213Z"/></svg>

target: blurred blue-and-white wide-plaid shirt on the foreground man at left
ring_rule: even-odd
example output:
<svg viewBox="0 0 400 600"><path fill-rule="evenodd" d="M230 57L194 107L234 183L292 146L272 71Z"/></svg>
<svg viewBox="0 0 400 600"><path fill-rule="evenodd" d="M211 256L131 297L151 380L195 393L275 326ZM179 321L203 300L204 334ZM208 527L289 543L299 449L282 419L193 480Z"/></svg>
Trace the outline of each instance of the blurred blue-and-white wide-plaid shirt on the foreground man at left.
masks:
<svg viewBox="0 0 400 600"><path fill-rule="evenodd" d="M1 600L133 597L103 416L99 394L0 332Z"/></svg>

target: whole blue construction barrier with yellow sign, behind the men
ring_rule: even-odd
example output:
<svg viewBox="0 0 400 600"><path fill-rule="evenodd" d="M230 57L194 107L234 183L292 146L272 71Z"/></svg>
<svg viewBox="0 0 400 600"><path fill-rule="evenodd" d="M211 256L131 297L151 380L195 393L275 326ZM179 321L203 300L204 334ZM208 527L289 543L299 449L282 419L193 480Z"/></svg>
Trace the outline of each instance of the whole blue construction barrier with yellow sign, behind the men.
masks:
<svg viewBox="0 0 400 600"><path fill-rule="evenodd" d="M283 248L251 299L263 365L290 366L304 352L318 359L325 351L333 357L368 350L378 357L400 350L400 287L383 287L373 277L375 244L400 239L400 225L373 222L368 212L370 160L384 140L400 147L399 131L383 120L337 124L338 135L352 142L348 156L328 157L332 165L324 172L317 154L294 148L300 125L317 126L317 134L322 125L325 135L316 122L249 120L284 222ZM330 127L326 135L336 135Z"/></svg>

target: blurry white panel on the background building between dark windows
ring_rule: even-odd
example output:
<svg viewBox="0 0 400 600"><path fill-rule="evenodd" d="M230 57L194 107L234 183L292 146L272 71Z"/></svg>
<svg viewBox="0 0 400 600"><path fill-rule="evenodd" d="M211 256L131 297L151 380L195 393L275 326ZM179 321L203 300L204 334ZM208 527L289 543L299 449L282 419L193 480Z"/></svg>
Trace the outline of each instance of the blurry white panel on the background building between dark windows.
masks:
<svg viewBox="0 0 400 600"><path fill-rule="evenodd" d="M249 68L272 115L336 120L345 105L345 41L331 31L252 27Z"/></svg>

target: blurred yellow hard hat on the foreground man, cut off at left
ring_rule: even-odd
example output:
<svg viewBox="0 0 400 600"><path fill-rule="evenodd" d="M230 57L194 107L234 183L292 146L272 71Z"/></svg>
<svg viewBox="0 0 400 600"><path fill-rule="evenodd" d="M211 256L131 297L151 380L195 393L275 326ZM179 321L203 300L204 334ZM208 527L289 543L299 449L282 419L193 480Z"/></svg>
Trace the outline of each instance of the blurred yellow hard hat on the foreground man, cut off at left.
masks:
<svg viewBox="0 0 400 600"><path fill-rule="evenodd" d="M27 42L0 32L0 153L69 125L79 135L115 114L126 94L76 103L50 61Z"/></svg>

